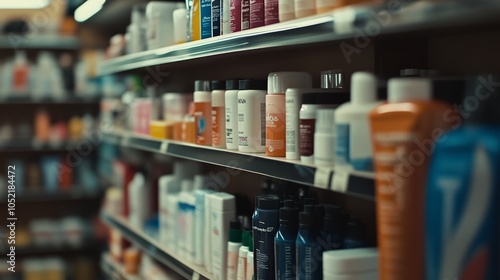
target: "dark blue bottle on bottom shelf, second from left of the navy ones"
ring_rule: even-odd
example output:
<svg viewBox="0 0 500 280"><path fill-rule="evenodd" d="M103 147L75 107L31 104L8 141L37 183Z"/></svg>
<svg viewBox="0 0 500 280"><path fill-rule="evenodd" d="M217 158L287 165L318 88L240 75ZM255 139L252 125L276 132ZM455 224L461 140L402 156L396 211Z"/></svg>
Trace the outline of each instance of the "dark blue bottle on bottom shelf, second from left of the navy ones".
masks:
<svg viewBox="0 0 500 280"><path fill-rule="evenodd" d="M276 280L295 279L295 242L299 230L299 209L293 200L285 200L280 209L280 227L274 239Z"/></svg>

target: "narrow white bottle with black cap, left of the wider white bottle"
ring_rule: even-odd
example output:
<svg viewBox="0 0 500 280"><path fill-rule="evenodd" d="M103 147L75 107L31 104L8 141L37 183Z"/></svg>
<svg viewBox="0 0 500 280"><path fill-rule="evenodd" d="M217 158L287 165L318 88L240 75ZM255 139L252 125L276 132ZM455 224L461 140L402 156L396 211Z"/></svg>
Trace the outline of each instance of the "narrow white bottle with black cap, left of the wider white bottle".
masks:
<svg viewBox="0 0 500 280"><path fill-rule="evenodd" d="M238 150L238 80L226 81L226 148Z"/></svg>

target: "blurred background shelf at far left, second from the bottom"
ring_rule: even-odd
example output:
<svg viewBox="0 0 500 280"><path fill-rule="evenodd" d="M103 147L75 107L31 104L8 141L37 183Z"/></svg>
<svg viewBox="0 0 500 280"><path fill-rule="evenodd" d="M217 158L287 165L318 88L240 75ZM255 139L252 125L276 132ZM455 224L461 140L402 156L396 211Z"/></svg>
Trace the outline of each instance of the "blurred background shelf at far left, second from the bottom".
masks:
<svg viewBox="0 0 500 280"><path fill-rule="evenodd" d="M70 187L70 188L78 188ZM84 191L68 191L68 192L33 192L26 194L17 194L16 203L57 203L57 202L71 202L89 201L100 199L103 196L102 191L84 192ZM7 200L0 200L0 204L7 203Z"/></svg>

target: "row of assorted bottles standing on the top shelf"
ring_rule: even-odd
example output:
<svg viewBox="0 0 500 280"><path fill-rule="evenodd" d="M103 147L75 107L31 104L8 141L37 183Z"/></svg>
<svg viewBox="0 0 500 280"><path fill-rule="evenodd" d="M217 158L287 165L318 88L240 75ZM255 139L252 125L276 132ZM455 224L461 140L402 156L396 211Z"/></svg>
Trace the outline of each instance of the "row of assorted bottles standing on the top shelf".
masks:
<svg viewBox="0 0 500 280"><path fill-rule="evenodd" d="M134 6L125 35L110 40L108 57L197 41L326 13L373 0L151 1ZM399 6L401 3L399 3Z"/></svg>

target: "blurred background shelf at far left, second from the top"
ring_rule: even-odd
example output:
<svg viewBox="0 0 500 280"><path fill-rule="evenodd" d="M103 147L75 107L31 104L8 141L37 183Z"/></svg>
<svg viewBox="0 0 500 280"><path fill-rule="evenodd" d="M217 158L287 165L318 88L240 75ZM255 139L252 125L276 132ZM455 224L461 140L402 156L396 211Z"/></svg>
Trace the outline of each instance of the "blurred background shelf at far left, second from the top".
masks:
<svg viewBox="0 0 500 280"><path fill-rule="evenodd" d="M71 96L70 94L62 97L42 97L36 98L30 94L10 94L9 96L0 97L0 105L30 105L30 104L97 104L101 101L100 97L80 97Z"/></svg>

